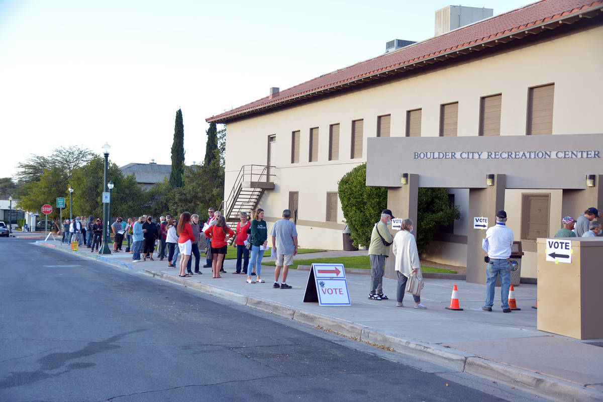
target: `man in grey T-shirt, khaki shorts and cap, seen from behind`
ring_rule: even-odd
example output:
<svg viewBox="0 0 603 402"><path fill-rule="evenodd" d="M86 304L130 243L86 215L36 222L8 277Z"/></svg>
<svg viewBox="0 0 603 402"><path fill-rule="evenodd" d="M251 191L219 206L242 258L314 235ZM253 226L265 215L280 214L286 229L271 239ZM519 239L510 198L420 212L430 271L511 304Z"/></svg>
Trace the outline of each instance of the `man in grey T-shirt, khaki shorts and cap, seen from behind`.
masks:
<svg viewBox="0 0 603 402"><path fill-rule="evenodd" d="M297 256L297 229L291 222L291 211L283 211L283 219L274 222L270 236L272 236L272 250L276 253L276 268L274 269L274 289L291 289L287 284L289 266L293 263L293 256ZM283 281L279 285L280 269L283 268Z"/></svg>

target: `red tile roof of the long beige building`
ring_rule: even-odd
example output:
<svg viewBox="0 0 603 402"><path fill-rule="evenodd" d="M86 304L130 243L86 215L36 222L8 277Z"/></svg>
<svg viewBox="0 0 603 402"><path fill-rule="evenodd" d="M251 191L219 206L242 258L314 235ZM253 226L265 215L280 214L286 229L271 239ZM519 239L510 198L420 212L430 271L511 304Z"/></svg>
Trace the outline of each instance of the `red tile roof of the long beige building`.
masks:
<svg viewBox="0 0 603 402"><path fill-rule="evenodd" d="M257 101L207 118L207 122L227 122L245 115L259 113L268 108L301 101L351 85L365 83L405 69L436 63L450 57L458 57L484 46L495 46L509 40L537 34L546 28L572 23L582 16L592 17L603 10L603 0L542 0L508 13L459 28L423 42L407 46L347 68L298 84ZM515 36L515 37L514 37Z"/></svg>

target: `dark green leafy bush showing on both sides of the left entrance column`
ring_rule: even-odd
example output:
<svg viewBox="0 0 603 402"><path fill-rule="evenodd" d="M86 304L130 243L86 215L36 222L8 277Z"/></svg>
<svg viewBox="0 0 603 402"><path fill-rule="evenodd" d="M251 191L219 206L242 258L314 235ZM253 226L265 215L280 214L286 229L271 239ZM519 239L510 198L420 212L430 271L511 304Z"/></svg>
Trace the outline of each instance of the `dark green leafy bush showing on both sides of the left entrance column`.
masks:
<svg viewBox="0 0 603 402"><path fill-rule="evenodd" d="M346 224L356 247L368 247L373 225L387 208L387 188L368 187L367 166L356 166L339 180L338 190ZM423 253L434 238L438 225L449 225L459 219L457 206L450 206L446 189L418 189L417 248Z"/></svg>

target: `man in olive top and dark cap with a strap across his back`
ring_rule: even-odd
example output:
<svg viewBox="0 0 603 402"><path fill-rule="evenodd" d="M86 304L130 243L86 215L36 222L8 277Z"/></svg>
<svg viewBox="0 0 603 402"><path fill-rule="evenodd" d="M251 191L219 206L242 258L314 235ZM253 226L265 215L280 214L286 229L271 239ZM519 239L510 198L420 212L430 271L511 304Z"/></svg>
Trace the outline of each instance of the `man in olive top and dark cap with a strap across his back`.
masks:
<svg viewBox="0 0 603 402"><path fill-rule="evenodd" d="M381 219L371 232L371 243L368 246L368 259L371 263L371 290L368 293L370 300L388 300L383 293L383 274L385 272L385 259L390 255L390 246L394 241L387 225L394 219L391 210L384 209Z"/></svg>

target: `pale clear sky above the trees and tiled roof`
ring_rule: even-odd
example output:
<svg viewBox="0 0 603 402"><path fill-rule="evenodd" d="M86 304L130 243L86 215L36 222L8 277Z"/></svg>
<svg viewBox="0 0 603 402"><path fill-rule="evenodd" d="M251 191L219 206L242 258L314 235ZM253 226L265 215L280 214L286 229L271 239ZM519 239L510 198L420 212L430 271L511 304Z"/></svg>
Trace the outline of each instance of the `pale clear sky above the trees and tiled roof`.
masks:
<svg viewBox="0 0 603 402"><path fill-rule="evenodd" d="M494 15L525 0L479 0ZM0 0L0 177L31 154L77 145L110 160L171 164L182 108L185 163L206 118L434 36L438 0L367 2Z"/></svg>

